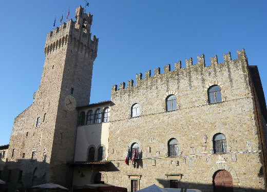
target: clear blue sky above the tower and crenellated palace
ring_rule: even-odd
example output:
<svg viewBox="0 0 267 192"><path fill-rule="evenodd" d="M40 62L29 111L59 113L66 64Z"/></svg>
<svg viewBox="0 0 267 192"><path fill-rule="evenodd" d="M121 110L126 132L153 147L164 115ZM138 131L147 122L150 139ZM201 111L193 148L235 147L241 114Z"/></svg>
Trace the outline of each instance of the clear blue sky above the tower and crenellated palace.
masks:
<svg viewBox="0 0 267 192"><path fill-rule="evenodd" d="M2 1L0 7L1 90L0 145L8 144L14 118L33 101L44 64L46 35L68 8L84 1ZM250 65L259 68L267 96L267 1L159 1L91 0L92 35L99 38L94 61L90 103L110 100L111 86L136 74L204 54L209 56L245 49Z"/></svg>

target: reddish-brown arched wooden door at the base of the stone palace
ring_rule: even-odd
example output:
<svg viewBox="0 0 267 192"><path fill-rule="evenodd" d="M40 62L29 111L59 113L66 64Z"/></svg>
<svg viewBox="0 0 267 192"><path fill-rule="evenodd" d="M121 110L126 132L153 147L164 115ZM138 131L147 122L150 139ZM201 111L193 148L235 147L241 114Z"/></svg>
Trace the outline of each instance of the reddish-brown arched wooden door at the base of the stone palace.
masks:
<svg viewBox="0 0 267 192"><path fill-rule="evenodd" d="M219 170L213 177L214 192L233 192L233 177L226 170Z"/></svg>

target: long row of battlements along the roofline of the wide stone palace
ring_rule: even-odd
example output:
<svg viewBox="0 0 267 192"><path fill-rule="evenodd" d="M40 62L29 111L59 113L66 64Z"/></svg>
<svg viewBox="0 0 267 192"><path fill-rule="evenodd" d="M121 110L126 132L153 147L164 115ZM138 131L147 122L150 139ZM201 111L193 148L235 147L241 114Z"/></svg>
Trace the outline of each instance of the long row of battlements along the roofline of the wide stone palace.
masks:
<svg viewBox="0 0 267 192"><path fill-rule="evenodd" d="M238 58L235 60L232 60L231 58L231 53L228 52L227 54L223 54L223 59L224 62L222 63L218 63L218 57L217 55L215 55L215 57L211 57L211 66L207 66L205 65L205 57L204 54L202 54L201 56L197 56L198 59L198 63L196 65L193 65L193 59L192 57L189 59L185 59L185 66L184 68L182 68L182 62L175 62L175 70L171 71L170 70L170 65L168 64L167 66L164 66L164 73L160 74L160 68L154 69L154 76L151 76L151 70L148 70L147 72L145 72L145 78L143 79L143 74L136 74L136 86L133 86L133 80L128 81L127 83L127 88L125 88L125 82L120 83L120 87L119 90L127 90L131 87L138 87L143 81L151 81L152 79L155 78L161 78L163 76L166 76L168 74L180 74L180 75L186 75L186 76L190 76L191 73L190 69L193 69L194 71L198 72L198 73L204 73L205 69L210 69L210 68L217 68L217 67L222 67L224 65L232 65L235 62L240 61L241 63L244 63L245 65L247 65L247 57L245 54L245 50L242 49L241 51L237 50L237 55ZM233 62L232 62L233 61ZM189 75L188 75L189 74ZM118 90L118 86L112 86L112 93L119 91Z"/></svg>

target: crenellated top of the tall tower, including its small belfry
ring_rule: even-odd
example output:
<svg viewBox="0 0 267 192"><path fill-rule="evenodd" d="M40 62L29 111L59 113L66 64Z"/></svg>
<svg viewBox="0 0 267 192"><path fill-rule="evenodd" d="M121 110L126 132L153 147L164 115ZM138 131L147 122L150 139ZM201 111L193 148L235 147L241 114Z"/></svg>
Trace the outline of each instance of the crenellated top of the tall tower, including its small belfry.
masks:
<svg viewBox="0 0 267 192"><path fill-rule="evenodd" d="M79 6L76 9L75 22L70 19L67 23L63 23L60 27L56 27L47 34L45 55L47 56L54 50L64 47L68 42L80 52L84 52L88 57L96 57L98 38L93 36L91 39L92 16L90 13L83 13L83 8Z"/></svg>

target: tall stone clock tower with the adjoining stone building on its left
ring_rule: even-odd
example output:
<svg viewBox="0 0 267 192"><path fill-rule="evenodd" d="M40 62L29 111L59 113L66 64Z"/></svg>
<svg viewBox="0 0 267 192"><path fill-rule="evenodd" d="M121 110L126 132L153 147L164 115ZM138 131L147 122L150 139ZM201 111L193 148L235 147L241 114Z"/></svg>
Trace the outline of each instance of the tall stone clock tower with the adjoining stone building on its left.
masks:
<svg viewBox="0 0 267 192"><path fill-rule="evenodd" d="M92 15L79 6L48 33L45 63L34 101L14 120L5 179L10 191L46 182L71 187L78 112L89 103L98 39L91 40ZM21 179L23 178L23 179Z"/></svg>

